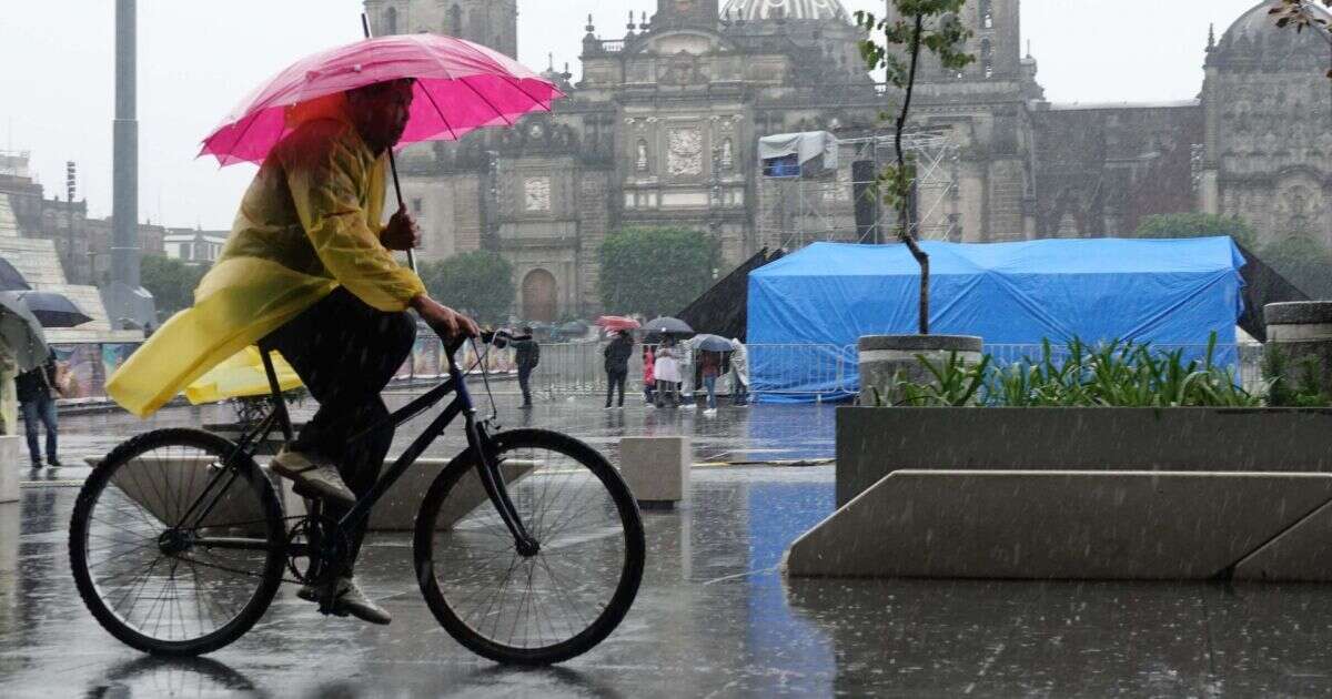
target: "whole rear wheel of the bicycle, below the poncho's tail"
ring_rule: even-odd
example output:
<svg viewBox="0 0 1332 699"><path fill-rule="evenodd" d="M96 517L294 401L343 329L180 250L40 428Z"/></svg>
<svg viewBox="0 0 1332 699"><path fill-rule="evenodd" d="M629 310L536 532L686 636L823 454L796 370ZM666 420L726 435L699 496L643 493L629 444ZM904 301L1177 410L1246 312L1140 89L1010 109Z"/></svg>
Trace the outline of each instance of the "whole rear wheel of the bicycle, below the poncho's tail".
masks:
<svg viewBox="0 0 1332 699"><path fill-rule="evenodd" d="M273 600L285 563L282 509L258 465L234 451L204 431L152 431L116 447L84 483L69 567L84 604L123 643L156 655L210 652Z"/></svg>

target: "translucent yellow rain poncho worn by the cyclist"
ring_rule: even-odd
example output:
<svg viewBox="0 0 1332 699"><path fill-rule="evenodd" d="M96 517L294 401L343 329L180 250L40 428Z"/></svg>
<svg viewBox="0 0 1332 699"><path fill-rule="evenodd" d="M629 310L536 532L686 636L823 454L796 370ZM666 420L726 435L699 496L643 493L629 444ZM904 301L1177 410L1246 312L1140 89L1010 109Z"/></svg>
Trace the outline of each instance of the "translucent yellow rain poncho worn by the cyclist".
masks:
<svg viewBox="0 0 1332 699"><path fill-rule="evenodd" d="M388 157L370 152L342 104L337 96L292 116L296 130L254 176L194 306L166 321L107 382L125 410L152 414L338 285L385 312L405 310L425 293L380 242Z"/></svg>

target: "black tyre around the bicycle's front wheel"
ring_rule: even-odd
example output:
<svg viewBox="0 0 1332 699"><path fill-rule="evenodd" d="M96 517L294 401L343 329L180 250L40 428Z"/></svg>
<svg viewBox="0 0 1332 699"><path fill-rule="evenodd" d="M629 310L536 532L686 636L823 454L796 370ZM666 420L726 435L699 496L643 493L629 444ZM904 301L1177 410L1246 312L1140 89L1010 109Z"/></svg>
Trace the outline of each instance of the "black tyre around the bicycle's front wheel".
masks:
<svg viewBox="0 0 1332 699"><path fill-rule="evenodd" d="M489 499L484 499L478 507L472 509L470 514L464 515L464 518L457 522L458 526L441 529L437 522L440 519L441 510L445 503L449 502L450 494L458 493L458 498L462 498L464 506L473 502L477 497L477 489L481 486L480 478L476 475L476 453L470 447L453 459L449 466L440 473L430 489L426 491L425 499L421 503L413 542L416 571L417 579L421 583L421 592L425 596L430 611L434 614L440 624L449 632L449 635L470 651L484 658L500 663L521 666L546 666L569 660L582 655L605 640L606 636L609 636L615 627L619 626L633 606L634 598L638 594L638 587L642 582L643 563L646 558L646 543L638 505L634 501L633 494L629 491L629 486L625 485L619 473L610 465L610 462L607 462L594 449L583 442L579 442L578 439L546 430L514 430L497 434L492 437L490 441L494 445L496 454L500 455L501 463L510 463L505 454L511 454L521 449L542 449L567 458L567 463L563 465L563 471L561 473L575 473L573 467L579 466L586 469L587 474L593 477L595 483L599 483L599 486L605 490L605 495L609 498L606 505L609 506L609 503L614 503L614 514L618 517L619 526L623 529L622 538L610 535L605 537L605 539L617 539L623 542L623 562L619 566L618 582L615 583L614 592L609 595L605 607L595 615L591 623L586 624L586 627L581 628L581 631L570 634L569 638L542 646L517 646L497 640L465 620L468 618L466 614L460 614L460 611L454 608L456 600L450 599L450 595L441 590L441 583L437 578L434 565L434 542L440 531L446 531L449 533L449 537L454 538L466 537L469 535L468 527L473 519L484 519L485 517L494 515L496 513L496 509ZM457 487L460 479L466 474L473 474L474 482L472 483L472 501L465 499L462 495L465 490ZM534 490L534 483L537 483L538 475L541 474L537 473L537 466L533 466L531 473L526 474L525 479L518 485L522 486L523 483L533 483L530 489ZM549 483L546 485L549 487ZM510 482L509 490L510 494L514 494L514 483ZM514 499L515 506L518 506L519 511L522 511L522 506L519 506L517 501L523 498L517 495L521 495L521 493L515 494ZM587 495L594 498L597 494L591 493ZM583 499L586 498L575 499L574 502L583 502ZM591 501L587 499L587 502ZM457 505L457 501L454 505ZM585 509L587 507L589 506L585 506ZM449 511L457 510L454 509ZM570 517L577 518L579 515ZM497 515L493 518L498 521ZM537 522L527 521L526 526L538 542L542 543L542 546L553 547L555 545L554 539L546 542L541 541L542 534L545 534L543 515L538 514L535 519ZM565 526L567 526L567 523ZM555 530L551 529L550 533L554 535ZM496 543L496 546L502 549L503 543ZM513 546L511 538L509 539L507 546ZM618 543L611 546L618 546ZM445 553L449 553L449 547L445 547ZM538 559L545 555L546 551L543 550L537 557L533 557L533 559ZM549 574L546 577L547 583L559 581L559 578L553 573L549 561L533 563L533 570L538 570L537 566L539 565L546 566L545 570ZM500 566L502 567L502 563L500 563ZM531 581L533 574L529 573L529 592L531 592ZM484 590L481 584L477 584L476 588ZM500 594L502 594L502 588ZM529 607L530 606L531 604L529 604ZM522 607L519 606L519 610ZM539 612L535 612L535 616L538 619L539 628ZM517 627L518 618L514 616L514 624ZM573 630L571 624L569 624L569 627ZM551 630L555 630L554 623L551 623Z"/></svg>

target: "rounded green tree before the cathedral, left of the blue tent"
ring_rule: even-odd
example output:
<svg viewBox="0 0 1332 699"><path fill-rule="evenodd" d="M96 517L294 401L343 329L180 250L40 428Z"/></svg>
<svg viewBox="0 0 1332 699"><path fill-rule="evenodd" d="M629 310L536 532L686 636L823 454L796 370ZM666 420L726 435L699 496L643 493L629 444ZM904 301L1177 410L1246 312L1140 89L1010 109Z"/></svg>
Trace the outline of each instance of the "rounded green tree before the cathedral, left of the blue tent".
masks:
<svg viewBox="0 0 1332 699"><path fill-rule="evenodd" d="M607 313L678 313L713 285L717 244L702 230L626 228L601 245L601 302Z"/></svg>

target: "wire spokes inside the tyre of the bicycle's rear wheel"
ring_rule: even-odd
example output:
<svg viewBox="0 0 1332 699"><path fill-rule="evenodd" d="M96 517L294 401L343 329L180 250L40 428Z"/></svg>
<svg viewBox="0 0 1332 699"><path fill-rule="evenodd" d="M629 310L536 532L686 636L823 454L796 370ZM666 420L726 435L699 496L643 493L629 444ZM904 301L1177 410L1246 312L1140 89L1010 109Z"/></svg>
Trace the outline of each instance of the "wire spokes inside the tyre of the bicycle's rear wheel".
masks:
<svg viewBox="0 0 1332 699"><path fill-rule="evenodd" d="M281 551L276 542L282 534L272 529L280 519L264 517L270 505L252 471L244 470L253 465L242 458L214 469L222 455L193 439L209 443L186 434L185 442L163 439L104 462L95 474L100 478L91 479L100 482L100 490L76 506L84 527L80 570L92 594L119 626L153 643L192 643L234 627L256 594L280 579L272 567ZM204 497L209 486L213 490ZM197 515L197 526L184 527L186 515ZM209 535L234 539L238 530L273 546L206 547Z"/></svg>

